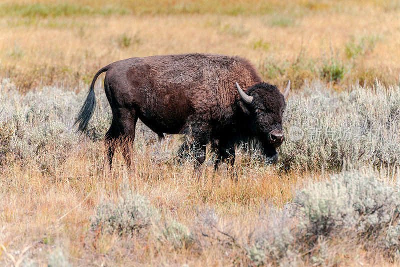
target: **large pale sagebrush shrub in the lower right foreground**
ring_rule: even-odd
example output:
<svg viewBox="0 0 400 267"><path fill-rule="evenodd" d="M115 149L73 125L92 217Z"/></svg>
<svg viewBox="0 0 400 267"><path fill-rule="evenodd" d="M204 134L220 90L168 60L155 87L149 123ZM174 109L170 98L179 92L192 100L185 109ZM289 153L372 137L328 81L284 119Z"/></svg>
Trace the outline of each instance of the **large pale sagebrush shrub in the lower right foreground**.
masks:
<svg viewBox="0 0 400 267"><path fill-rule="evenodd" d="M301 214L299 223L310 236L356 233L384 241L382 231L387 232L390 221L392 226L398 224L400 212L400 194L395 188L374 175L356 172L310 184L293 202Z"/></svg>

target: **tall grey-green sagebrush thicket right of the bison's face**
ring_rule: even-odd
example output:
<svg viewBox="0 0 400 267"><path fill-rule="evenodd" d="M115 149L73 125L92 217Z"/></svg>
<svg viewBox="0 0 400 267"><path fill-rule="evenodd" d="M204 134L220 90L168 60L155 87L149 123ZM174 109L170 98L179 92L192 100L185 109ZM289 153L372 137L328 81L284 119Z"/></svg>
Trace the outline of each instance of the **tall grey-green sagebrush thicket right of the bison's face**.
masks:
<svg viewBox="0 0 400 267"><path fill-rule="evenodd" d="M279 148L286 168L326 169L363 165L399 165L400 88L356 87L332 92L314 82L287 102ZM293 129L302 133L293 136ZM294 138L293 138L294 137ZM347 166L348 165L348 166Z"/></svg>

